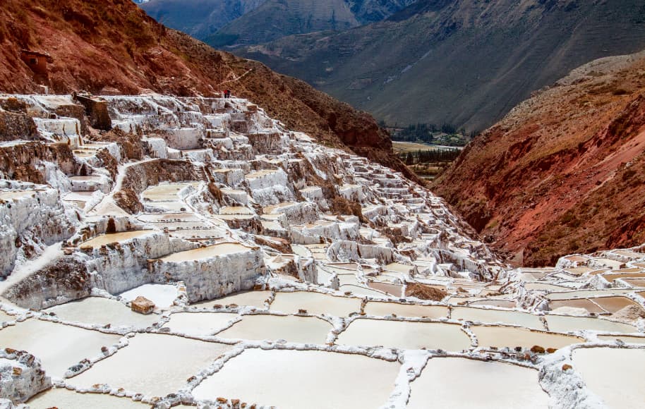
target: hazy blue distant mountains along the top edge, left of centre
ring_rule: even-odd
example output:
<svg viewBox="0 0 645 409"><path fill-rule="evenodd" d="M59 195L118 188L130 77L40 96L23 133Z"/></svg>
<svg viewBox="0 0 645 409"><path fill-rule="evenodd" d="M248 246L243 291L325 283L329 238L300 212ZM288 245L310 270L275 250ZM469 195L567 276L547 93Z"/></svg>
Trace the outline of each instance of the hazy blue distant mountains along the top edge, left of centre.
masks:
<svg viewBox="0 0 645 409"><path fill-rule="evenodd" d="M344 30L373 23L392 16L415 0L134 1L159 23L221 47L236 42L255 44L285 35ZM246 16L247 13L251 14ZM217 32L220 28L222 31Z"/></svg>

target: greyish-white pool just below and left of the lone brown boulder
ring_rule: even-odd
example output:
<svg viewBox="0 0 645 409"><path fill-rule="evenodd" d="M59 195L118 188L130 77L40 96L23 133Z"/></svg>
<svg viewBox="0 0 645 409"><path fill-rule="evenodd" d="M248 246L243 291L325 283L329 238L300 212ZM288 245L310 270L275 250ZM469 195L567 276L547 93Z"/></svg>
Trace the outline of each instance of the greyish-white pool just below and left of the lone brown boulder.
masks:
<svg viewBox="0 0 645 409"><path fill-rule="evenodd" d="M68 322L84 324L111 324L111 326L135 326L147 328L159 321L159 315L141 315L116 300L102 297L88 297L63 305L47 308L43 312L54 312L57 317Z"/></svg>

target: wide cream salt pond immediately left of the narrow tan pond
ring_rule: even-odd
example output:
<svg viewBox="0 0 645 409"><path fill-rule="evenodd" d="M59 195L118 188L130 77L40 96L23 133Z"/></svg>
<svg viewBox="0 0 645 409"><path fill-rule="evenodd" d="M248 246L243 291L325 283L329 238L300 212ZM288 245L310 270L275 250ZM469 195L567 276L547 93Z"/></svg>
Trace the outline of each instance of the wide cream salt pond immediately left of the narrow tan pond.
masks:
<svg viewBox="0 0 645 409"><path fill-rule="evenodd" d="M399 349L443 349L461 351L471 339L457 324L356 319L337 342L348 346L385 346Z"/></svg>

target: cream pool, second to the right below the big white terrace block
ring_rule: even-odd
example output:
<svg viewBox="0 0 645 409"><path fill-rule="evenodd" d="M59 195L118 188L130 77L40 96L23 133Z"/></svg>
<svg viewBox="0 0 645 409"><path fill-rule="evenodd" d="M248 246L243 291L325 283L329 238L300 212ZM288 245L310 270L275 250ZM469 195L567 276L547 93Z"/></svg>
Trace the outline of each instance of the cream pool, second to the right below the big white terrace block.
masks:
<svg viewBox="0 0 645 409"><path fill-rule="evenodd" d="M276 293L270 310L296 313L307 310L309 314L327 314L336 317L347 317L351 312L361 310L361 299L334 297L320 293L296 291L294 293Z"/></svg>

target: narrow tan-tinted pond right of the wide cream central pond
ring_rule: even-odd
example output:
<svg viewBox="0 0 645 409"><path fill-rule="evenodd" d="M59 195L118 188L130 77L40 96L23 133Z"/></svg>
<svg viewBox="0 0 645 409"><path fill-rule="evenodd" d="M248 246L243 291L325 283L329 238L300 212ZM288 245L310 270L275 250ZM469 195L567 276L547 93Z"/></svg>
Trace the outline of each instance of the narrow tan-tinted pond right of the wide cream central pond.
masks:
<svg viewBox="0 0 645 409"><path fill-rule="evenodd" d="M572 343L584 342L584 338L531 331L512 326L471 326L471 330L477 336L478 346L483 348L491 346L531 348L536 345L543 348L562 348Z"/></svg>

